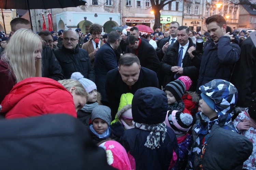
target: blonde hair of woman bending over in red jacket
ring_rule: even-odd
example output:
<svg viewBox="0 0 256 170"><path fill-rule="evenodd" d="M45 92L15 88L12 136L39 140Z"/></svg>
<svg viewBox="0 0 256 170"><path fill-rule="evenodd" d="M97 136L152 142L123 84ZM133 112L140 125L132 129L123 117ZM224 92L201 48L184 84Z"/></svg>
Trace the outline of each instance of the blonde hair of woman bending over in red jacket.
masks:
<svg viewBox="0 0 256 170"><path fill-rule="evenodd" d="M67 90L70 90L71 87L75 87L76 88L75 94L79 96L84 96L86 100L88 100L89 94L87 93L87 91L79 81L74 79L66 79L66 80L59 80L58 82L62 84L62 86L64 86Z"/></svg>

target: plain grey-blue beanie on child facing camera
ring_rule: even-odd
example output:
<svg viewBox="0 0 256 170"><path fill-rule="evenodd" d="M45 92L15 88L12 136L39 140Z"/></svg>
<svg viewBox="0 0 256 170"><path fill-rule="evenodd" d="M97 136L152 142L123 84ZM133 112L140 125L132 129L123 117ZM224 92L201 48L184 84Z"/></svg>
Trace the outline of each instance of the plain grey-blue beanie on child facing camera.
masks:
<svg viewBox="0 0 256 170"><path fill-rule="evenodd" d="M108 106L98 105L94 107L93 112L91 112L91 121L96 118L100 118L110 125L111 123L111 109Z"/></svg>

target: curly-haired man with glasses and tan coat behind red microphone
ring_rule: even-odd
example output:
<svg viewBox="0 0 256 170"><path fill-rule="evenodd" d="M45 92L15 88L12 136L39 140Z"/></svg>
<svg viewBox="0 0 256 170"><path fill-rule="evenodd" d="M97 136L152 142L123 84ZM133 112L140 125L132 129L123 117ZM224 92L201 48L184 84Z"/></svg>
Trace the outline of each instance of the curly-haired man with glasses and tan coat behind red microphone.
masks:
<svg viewBox="0 0 256 170"><path fill-rule="evenodd" d="M105 44L100 39L101 32L102 32L102 27L100 26L100 24L97 24L97 23L91 24L89 28L90 35L88 34L88 37L91 36L92 38L86 43L84 43L82 46L82 49L85 49L88 52L92 65L94 65L94 58L97 51L101 48L101 46ZM98 44L95 43L95 39L99 40Z"/></svg>

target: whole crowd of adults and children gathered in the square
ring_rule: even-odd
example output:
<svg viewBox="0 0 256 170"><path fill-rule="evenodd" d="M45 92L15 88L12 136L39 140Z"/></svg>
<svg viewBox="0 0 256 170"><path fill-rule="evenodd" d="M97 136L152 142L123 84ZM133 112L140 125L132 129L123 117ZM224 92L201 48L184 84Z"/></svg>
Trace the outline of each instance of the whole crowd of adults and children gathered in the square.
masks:
<svg viewBox="0 0 256 170"><path fill-rule="evenodd" d="M169 31L156 28L148 35L137 27L102 35L97 23L87 35L80 28L35 34L29 21L15 18L11 34L0 34L0 114L8 119L1 121L27 127L29 120L61 119L79 126L83 130L72 133L78 130L79 141L88 142L79 153L100 155L102 164L88 162L94 168L254 169L256 48L250 36L241 42L243 31L238 37L221 15L205 23L204 35L176 21ZM54 131L41 128L39 136ZM67 151L65 142L59 145ZM44 147L33 154L47 157ZM70 163L58 157L57 148L56 162L43 167ZM75 158L77 151L69 152Z"/></svg>

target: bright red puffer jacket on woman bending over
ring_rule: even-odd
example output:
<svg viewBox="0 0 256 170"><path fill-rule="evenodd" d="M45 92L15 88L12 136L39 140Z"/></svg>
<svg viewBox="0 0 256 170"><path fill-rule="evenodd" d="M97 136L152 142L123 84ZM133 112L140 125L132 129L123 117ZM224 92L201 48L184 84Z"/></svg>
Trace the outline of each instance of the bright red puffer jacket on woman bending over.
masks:
<svg viewBox="0 0 256 170"><path fill-rule="evenodd" d="M76 118L71 93L55 80L31 77L18 82L1 103L5 118L66 113Z"/></svg>

